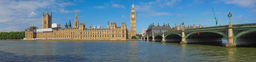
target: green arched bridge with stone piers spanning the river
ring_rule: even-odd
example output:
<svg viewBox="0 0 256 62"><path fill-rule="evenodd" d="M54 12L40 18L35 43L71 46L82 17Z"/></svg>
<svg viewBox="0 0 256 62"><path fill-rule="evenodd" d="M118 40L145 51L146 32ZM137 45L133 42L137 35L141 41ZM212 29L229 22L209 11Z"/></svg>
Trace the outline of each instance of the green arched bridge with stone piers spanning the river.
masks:
<svg viewBox="0 0 256 62"><path fill-rule="evenodd" d="M191 43L222 43L228 40L226 47L256 44L256 23L211 26L195 29L183 29L147 35L146 41Z"/></svg>

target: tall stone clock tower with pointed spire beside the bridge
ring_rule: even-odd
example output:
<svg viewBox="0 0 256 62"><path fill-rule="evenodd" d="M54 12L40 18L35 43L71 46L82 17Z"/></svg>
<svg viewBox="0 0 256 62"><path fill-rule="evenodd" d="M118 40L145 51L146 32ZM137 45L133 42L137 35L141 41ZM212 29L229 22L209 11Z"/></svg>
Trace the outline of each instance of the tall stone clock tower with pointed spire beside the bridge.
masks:
<svg viewBox="0 0 256 62"><path fill-rule="evenodd" d="M130 19L131 19L131 30L130 30L129 38L131 39L132 36L136 36L136 12L134 10L134 5L130 13Z"/></svg>

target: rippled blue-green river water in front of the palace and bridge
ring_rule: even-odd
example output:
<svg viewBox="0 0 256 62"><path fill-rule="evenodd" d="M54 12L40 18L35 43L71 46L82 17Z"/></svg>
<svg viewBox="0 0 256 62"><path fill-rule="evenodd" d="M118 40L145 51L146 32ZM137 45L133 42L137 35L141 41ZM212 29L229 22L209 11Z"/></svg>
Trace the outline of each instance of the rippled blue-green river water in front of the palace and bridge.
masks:
<svg viewBox="0 0 256 62"><path fill-rule="evenodd" d="M225 44L226 41L223 41ZM256 61L255 47L147 41L0 41L6 61Z"/></svg>

